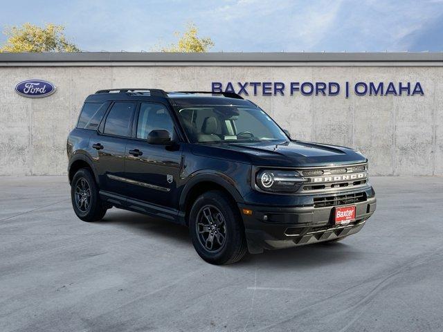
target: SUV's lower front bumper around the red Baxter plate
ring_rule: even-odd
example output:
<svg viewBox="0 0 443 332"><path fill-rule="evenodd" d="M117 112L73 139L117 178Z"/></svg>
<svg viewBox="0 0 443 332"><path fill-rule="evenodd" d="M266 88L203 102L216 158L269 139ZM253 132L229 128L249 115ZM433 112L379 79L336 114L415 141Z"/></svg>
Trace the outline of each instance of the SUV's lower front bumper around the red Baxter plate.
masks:
<svg viewBox="0 0 443 332"><path fill-rule="evenodd" d="M248 250L251 253L259 253L264 249L303 246L355 234L374 213L377 200L372 196L365 201L349 205L356 206L356 218L347 225L335 225L335 206L281 208L239 204L240 212L243 209L252 210L251 215L242 214Z"/></svg>

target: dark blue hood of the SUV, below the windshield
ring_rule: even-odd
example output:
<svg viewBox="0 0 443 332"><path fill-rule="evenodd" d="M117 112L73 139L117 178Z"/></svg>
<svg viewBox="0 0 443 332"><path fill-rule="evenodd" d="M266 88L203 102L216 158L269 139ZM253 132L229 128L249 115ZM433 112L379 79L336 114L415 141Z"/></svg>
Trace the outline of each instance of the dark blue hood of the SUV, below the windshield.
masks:
<svg viewBox="0 0 443 332"><path fill-rule="evenodd" d="M348 147L314 142L291 141L278 145L271 142L199 145L195 154L248 162L253 165L279 167L333 166L364 163L365 156ZM208 149L209 150L208 150ZM214 151L216 149L217 151ZM200 153L199 153L200 152Z"/></svg>

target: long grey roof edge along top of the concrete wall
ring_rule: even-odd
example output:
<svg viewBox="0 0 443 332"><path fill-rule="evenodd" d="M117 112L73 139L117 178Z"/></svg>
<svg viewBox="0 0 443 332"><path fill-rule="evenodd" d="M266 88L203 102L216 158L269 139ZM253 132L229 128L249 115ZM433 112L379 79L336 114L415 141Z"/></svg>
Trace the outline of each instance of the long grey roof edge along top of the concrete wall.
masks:
<svg viewBox="0 0 443 332"><path fill-rule="evenodd" d="M183 64L196 65L282 65L308 63L426 63L442 66L443 53L155 53L155 52L79 52L79 53L0 53L0 66L131 66Z"/></svg>

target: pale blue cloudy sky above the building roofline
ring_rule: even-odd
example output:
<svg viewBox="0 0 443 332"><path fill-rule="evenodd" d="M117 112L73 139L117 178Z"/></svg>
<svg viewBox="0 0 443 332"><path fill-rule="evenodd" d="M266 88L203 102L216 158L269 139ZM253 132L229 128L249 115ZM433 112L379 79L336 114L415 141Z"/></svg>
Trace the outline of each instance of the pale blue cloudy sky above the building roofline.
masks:
<svg viewBox="0 0 443 332"><path fill-rule="evenodd" d="M0 0L0 25L66 26L82 50L140 51L174 42L186 22L213 51L443 51L443 0ZM0 36L0 43L6 36Z"/></svg>

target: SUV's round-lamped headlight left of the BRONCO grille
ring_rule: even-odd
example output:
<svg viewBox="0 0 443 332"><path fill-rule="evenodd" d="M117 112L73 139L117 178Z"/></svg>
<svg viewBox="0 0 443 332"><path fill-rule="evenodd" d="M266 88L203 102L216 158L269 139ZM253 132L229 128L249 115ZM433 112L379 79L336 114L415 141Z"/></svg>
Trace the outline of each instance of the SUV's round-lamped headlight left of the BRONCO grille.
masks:
<svg viewBox="0 0 443 332"><path fill-rule="evenodd" d="M255 176L257 186L266 192L296 192L303 182L298 172L285 169L262 169Z"/></svg>

